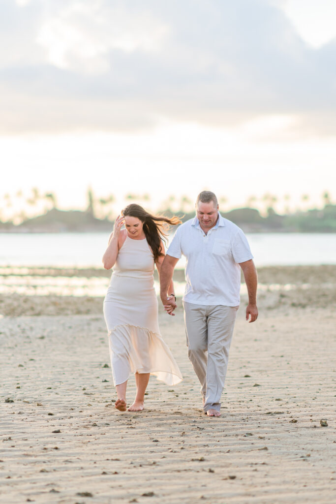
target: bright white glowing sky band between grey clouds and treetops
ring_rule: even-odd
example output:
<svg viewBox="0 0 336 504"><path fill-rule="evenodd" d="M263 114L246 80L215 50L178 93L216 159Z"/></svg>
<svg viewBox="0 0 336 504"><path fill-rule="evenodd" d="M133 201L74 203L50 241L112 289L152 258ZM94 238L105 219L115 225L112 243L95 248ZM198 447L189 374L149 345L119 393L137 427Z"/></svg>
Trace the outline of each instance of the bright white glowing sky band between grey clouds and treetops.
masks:
<svg viewBox="0 0 336 504"><path fill-rule="evenodd" d="M335 145L332 138L289 141L286 131L295 124L287 116L260 117L230 129L162 120L155 131L135 134L0 137L7 168L1 196L19 190L26 196L37 187L55 193L61 209L84 209L91 186L98 198L115 196L117 213L128 193L149 194L147 205L157 210L170 195L193 202L208 189L226 198L223 211L266 193L279 199L275 208L280 212L321 207L322 193L336 186ZM309 199L303 202L305 194Z"/></svg>

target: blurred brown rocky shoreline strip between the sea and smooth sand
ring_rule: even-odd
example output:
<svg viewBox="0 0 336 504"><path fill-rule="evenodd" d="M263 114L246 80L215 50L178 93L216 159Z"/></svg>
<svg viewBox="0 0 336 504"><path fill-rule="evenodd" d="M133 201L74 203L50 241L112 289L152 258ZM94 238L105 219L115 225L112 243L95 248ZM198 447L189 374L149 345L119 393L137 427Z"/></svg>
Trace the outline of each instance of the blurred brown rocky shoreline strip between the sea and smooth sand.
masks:
<svg viewBox="0 0 336 504"><path fill-rule="evenodd" d="M61 276L66 278L92 279L96 275L109 277L111 271L103 269L45 269L45 268L24 268L21 274L8 272L0 269L1 274L7 279L13 276L16 280L22 276L31 277L32 283L39 278L48 277L48 282L52 278L57 280ZM23 274L22 274L23 273ZM84 276L85 275L85 276ZM259 290L258 308L259 311L282 311L288 313L294 309L308 309L333 307L336 298L336 265L324 266L296 266L296 267L264 267L258 268ZM184 282L183 270L174 272L175 282ZM14 280L13 280L14 281ZM15 289L16 283L12 289ZM90 285L87 291L90 292ZM106 287L107 288L107 287ZM241 309L247 303L246 286L242 283L241 289ZM3 317L19 316L62 316L79 314L101 314L104 295L23 295L18 293L0 293L0 315ZM159 302L159 310L161 303ZM178 309L181 309L181 298L178 297Z"/></svg>

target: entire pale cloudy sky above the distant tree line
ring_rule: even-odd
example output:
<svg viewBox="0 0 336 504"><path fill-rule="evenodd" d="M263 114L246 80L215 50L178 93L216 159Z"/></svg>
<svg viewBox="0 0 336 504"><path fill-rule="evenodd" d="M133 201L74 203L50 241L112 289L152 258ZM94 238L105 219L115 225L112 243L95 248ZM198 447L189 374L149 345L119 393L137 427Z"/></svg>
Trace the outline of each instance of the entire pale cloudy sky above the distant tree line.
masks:
<svg viewBox="0 0 336 504"><path fill-rule="evenodd" d="M335 202L334 19L334 0L2 0L3 218L32 187L116 213L204 189Z"/></svg>

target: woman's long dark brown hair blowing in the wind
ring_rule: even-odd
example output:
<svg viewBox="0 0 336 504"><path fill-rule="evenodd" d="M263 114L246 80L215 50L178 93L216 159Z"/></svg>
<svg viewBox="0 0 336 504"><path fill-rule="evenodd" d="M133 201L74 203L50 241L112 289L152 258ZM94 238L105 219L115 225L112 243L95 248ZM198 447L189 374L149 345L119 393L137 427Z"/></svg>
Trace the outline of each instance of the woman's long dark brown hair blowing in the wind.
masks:
<svg viewBox="0 0 336 504"><path fill-rule="evenodd" d="M137 217L143 223L144 233L146 235L147 242L153 251L154 261L156 261L160 256L164 256L164 251L161 251L161 239L167 243L167 233L165 232L169 226L176 226L176 224L181 224L178 217L172 217L168 219L164 216L151 215L146 210L137 205L136 203L131 203L127 205L121 211L121 214L126 217Z"/></svg>

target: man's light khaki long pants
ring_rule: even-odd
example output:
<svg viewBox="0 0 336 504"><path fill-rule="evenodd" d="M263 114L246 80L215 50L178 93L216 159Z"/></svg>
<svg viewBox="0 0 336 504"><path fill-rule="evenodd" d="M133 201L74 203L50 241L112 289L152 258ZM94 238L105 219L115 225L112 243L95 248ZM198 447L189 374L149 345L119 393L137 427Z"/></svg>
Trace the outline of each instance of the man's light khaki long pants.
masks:
<svg viewBox="0 0 336 504"><path fill-rule="evenodd" d="M201 385L204 412L221 409L229 349L239 306L183 301L188 357Z"/></svg>

